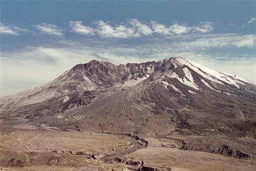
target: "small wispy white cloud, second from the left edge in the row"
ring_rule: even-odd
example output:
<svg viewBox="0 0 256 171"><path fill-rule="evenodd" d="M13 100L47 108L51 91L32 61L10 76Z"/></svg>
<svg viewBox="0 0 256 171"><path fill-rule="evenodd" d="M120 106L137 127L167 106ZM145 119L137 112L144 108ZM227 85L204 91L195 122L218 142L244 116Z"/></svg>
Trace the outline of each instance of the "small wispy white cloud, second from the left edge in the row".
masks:
<svg viewBox="0 0 256 171"><path fill-rule="evenodd" d="M43 34L54 35L54 36L58 36L58 37L63 36L63 30L58 29L58 27L54 24L42 23L42 24L33 25L33 26Z"/></svg>

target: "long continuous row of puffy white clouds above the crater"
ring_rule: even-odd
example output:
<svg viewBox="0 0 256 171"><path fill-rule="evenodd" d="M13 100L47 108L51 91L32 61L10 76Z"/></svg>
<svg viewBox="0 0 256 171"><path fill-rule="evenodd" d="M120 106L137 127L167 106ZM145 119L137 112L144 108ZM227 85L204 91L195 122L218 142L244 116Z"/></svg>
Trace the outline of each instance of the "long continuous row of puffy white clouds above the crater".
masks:
<svg viewBox="0 0 256 171"><path fill-rule="evenodd" d="M195 26L185 23L174 23L166 26L154 21L150 24L140 22L138 19L128 20L125 24L111 25L109 22L97 20L92 23L95 27L85 26L82 21L70 21L72 32L82 35L98 35L109 38L131 38L150 35L181 35L189 32L207 33L213 30L212 22L200 22Z"/></svg>

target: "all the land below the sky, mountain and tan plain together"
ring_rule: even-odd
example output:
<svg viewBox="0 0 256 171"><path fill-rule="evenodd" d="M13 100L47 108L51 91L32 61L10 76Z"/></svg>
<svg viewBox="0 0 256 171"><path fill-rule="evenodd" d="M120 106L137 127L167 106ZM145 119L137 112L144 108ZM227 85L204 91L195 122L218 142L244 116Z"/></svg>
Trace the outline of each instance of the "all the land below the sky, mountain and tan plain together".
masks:
<svg viewBox="0 0 256 171"><path fill-rule="evenodd" d="M256 86L185 58L90 61L1 98L12 170L253 170Z"/></svg>

